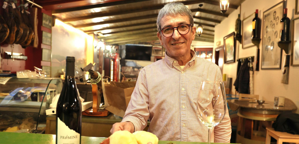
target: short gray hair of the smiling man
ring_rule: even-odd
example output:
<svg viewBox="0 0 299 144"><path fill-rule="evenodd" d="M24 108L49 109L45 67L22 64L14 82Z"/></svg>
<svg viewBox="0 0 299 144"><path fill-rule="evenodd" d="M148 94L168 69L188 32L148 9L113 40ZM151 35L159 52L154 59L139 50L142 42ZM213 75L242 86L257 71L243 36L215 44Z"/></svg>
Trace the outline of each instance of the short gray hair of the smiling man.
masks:
<svg viewBox="0 0 299 144"><path fill-rule="evenodd" d="M191 13L191 10L188 9L183 3L180 2L171 2L166 4L159 12L158 17L157 17L157 28L158 31L160 31L160 21L164 16L169 16L169 15L181 15L181 16L188 16L190 19L190 24L191 26L194 25L193 21L193 16Z"/></svg>

